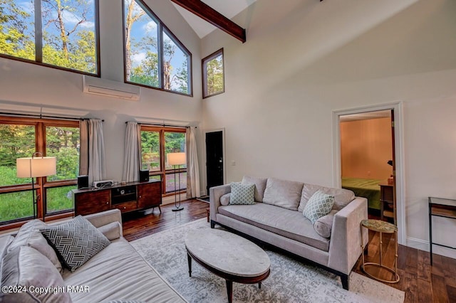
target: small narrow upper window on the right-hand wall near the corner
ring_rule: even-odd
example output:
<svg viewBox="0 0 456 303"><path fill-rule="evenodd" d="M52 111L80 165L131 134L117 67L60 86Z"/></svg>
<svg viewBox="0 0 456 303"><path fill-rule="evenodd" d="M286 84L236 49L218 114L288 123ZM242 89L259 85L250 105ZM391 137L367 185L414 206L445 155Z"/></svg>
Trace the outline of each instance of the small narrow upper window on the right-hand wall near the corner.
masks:
<svg viewBox="0 0 456 303"><path fill-rule="evenodd" d="M223 48L202 59L202 97L210 97L225 91Z"/></svg>

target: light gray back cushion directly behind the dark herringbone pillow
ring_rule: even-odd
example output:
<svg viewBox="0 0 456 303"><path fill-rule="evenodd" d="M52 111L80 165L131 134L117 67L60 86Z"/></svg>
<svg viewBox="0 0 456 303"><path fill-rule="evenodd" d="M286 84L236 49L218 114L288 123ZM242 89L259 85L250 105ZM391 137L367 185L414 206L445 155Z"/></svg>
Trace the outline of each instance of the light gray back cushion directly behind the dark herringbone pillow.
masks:
<svg viewBox="0 0 456 303"><path fill-rule="evenodd" d="M62 270L62 265L58 260L56 252L51 245L49 245L48 241L46 241L46 238L40 233L40 228L46 228L46 226L48 226L46 223L43 223L43 221L38 219L31 220L22 225L14 238L13 243L9 245L8 252L19 248L19 246L35 248L38 252L41 252L41 254L47 257L60 272Z"/></svg>

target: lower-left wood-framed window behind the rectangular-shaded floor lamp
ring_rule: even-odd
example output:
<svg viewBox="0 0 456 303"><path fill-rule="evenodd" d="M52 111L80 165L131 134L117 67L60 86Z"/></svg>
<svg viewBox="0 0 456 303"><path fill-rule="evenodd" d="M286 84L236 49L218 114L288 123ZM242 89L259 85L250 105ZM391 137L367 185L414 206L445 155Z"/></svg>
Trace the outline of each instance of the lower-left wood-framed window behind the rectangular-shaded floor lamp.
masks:
<svg viewBox="0 0 456 303"><path fill-rule="evenodd" d="M35 151L57 159L55 175L34 180L38 217L71 211L79 147L78 121L0 117L0 224L33 216L31 179L16 176L16 159Z"/></svg>

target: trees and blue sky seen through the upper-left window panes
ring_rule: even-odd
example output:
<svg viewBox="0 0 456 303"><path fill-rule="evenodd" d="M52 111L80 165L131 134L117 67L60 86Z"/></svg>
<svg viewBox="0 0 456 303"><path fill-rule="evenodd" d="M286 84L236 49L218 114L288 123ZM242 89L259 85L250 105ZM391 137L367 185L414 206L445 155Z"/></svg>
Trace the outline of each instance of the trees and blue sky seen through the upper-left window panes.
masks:
<svg viewBox="0 0 456 303"><path fill-rule="evenodd" d="M32 1L33 3L33 1ZM43 63L96 73L95 30L81 29L93 3L86 0L41 0ZM69 28L63 14L78 18ZM36 60L33 16L13 0L0 0L0 53ZM51 29L53 31L51 31Z"/></svg>

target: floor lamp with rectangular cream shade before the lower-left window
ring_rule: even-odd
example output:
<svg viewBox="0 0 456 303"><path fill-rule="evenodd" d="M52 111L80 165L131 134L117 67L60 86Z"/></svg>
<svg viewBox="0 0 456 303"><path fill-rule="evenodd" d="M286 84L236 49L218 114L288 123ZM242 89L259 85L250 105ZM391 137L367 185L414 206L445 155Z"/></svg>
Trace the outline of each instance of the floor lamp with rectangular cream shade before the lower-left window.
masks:
<svg viewBox="0 0 456 303"><path fill-rule="evenodd" d="M37 203L40 196L36 196L35 200L35 182L33 178L56 174L56 157L43 156L41 152L36 152L31 158L18 158L16 159L16 171L18 178L31 178L33 218L36 218L38 213Z"/></svg>

